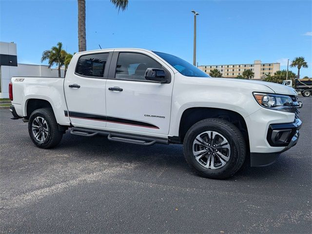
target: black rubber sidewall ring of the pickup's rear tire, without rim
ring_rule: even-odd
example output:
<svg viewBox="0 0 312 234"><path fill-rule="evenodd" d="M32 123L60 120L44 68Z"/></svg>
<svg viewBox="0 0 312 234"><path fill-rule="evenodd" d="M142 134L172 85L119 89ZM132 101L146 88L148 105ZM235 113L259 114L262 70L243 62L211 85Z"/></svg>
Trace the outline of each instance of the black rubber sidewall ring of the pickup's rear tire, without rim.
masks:
<svg viewBox="0 0 312 234"><path fill-rule="evenodd" d="M45 141L43 141L43 142L40 142L40 141L38 141L35 137L34 137L34 135L33 135L33 132L32 132L32 123L33 123L33 121L34 121L34 119L36 118L36 117L42 117L42 118L44 118L44 120L46 121L46 123L47 123L47 125L48 125L48 128L49 128L49 133L48 133L48 136L47 136L47 138L45 139ZM51 141L51 138L52 138L52 127L51 127L51 123L50 123L50 119L49 119L49 117L47 117L43 112L41 112L41 111L34 111L32 114L31 114L31 116L30 116L30 118L29 118L29 122L28 122L28 132L29 132L29 135L30 135L30 138L31 138L31 140L34 142L34 144L35 145L37 145L38 147L42 147L42 148L45 148L45 146L47 146L47 145L49 145L49 143L50 143L50 141Z"/></svg>

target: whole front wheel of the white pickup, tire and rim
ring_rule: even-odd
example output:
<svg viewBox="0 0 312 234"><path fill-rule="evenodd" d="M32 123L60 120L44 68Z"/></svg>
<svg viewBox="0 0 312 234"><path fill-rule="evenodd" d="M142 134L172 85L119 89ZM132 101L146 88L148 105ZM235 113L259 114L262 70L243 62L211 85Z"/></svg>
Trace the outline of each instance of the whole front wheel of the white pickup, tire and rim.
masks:
<svg viewBox="0 0 312 234"><path fill-rule="evenodd" d="M195 141L196 137L201 140L200 144ZM223 146L220 147L221 145ZM186 161L197 174L207 178L225 179L233 176L243 165L246 141L234 124L224 119L207 118L195 123L187 131L183 151ZM198 154L199 151L203 153Z"/></svg>

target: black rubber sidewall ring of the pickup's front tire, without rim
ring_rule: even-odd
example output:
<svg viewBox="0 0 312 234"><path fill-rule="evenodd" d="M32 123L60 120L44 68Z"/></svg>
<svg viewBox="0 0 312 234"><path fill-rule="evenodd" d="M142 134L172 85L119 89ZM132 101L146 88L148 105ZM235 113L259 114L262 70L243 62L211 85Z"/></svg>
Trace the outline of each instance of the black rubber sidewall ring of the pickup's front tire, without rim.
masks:
<svg viewBox="0 0 312 234"><path fill-rule="evenodd" d="M190 129L191 132L188 132L185 137L184 143L184 156L185 159L189 164L191 164L196 171L204 174L204 176L209 176L211 178L220 178L220 176L228 177L233 174L233 170L235 165L238 163L239 160L239 144L237 139L234 136L234 132L230 128L226 128L222 126L220 123L210 122L209 126L206 123L197 124L193 129ZM189 130L189 131L190 131ZM206 131L215 131L222 136L224 136L231 147L230 159L227 164L219 169L207 169L200 165L195 156L193 155L193 142L195 137L199 134L206 132Z"/></svg>

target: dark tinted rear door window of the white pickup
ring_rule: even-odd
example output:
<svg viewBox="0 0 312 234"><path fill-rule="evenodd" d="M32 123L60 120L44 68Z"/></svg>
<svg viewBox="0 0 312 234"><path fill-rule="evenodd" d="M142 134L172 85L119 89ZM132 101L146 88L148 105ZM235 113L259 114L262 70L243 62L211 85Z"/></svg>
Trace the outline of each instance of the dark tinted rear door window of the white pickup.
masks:
<svg viewBox="0 0 312 234"><path fill-rule="evenodd" d="M78 75L103 78L108 53L81 56L76 66Z"/></svg>

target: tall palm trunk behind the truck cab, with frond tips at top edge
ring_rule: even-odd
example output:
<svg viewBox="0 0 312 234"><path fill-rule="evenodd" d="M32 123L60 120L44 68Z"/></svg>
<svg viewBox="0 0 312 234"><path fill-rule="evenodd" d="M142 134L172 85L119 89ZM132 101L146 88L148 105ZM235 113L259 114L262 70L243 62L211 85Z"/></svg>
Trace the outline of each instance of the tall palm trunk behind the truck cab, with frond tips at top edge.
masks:
<svg viewBox="0 0 312 234"><path fill-rule="evenodd" d="M124 11L128 7L128 0L111 0L118 8ZM78 50L86 51L86 0L78 0Z"/></svg>

